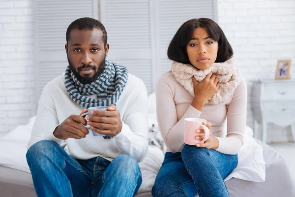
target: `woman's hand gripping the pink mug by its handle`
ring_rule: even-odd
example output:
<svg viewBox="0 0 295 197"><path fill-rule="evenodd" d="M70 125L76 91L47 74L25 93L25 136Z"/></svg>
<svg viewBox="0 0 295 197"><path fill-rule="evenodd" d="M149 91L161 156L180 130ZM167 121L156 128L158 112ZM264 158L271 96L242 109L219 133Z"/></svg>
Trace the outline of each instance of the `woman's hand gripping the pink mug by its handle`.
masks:
<svg viewBox="0 0 295 197"><path fill-rule="evenodd" d="M212 133L210 131L211 129L211 123L209 122L203 122L203 125L207 126L207 128L209 129L209 138L203 143L203 144L196 144L197 147L200 148L207 148L207 149L217 149L219 147L219 141L216 137L212 136ZM205 129L201 128L201 130L197 131L196 134L196 139L199 139L200 141L202 141L205 137Z"/></svg>

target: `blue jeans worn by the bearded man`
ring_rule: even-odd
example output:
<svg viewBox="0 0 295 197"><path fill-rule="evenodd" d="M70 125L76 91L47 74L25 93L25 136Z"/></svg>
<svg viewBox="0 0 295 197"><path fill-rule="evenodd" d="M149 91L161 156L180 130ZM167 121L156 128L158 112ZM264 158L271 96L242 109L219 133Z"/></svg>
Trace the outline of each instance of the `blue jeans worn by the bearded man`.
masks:
<svg viewBox="0 0 295 197"><path fill-rule="evenodd" d="M50 140L33 144L27 161L38 197L132 197L142 183L139 165L128 155L112 162L76 160Z"/></svg>

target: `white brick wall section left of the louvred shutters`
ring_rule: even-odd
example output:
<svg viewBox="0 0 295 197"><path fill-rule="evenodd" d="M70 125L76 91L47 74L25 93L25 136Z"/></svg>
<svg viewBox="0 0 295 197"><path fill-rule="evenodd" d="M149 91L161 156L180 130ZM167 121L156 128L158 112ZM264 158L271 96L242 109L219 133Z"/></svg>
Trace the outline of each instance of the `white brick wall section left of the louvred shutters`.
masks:
<svg viewBox="0 0 295 197"><path fill-rule="evenodd" d="M0 132L35 114L32 0L0 0Z"/></svg>

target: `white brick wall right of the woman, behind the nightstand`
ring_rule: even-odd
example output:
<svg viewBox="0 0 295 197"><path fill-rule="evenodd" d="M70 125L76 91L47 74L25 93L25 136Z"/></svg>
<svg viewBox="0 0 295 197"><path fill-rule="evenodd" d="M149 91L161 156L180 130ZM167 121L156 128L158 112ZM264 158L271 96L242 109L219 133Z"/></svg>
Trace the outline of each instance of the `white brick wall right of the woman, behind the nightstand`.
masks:
<svg viewBox="0 0 295 197"><path fill-rule="evenodd" d="M219 24L248 82L247 125L253 127L251 81L274 79L279 59L291 59L295 79L295 0L218 0ZM290 128L268 125L268 141L292 141Z"/></svg>

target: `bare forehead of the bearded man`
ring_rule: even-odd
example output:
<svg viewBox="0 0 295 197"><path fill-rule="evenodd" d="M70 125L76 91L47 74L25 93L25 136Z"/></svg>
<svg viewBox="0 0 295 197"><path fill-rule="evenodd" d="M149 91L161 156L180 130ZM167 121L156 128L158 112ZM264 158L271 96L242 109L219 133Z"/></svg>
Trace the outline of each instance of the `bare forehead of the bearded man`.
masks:
<svg viewBox="0 0 295 197"><path fill-rule="evenodd" d="M99 29L93 29L93 30L73 29L70 32L69 42L75 42L75 43L103 42L103 33Z"/></svg>

